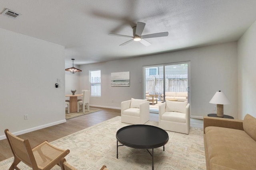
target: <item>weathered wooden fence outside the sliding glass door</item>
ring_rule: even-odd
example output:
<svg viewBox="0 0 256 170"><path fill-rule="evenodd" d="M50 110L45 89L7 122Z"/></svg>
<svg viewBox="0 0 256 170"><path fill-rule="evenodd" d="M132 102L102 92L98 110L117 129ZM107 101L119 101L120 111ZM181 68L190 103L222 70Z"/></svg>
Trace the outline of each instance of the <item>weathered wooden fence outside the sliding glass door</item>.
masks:
<svg viewBox="0 0 256 170"><path fill-rule="evenodd" d="M188 75L172 74L166 75L166 92L187 92ZM146 76L146 92L149 94L164 93L163 75Z"/></svg>

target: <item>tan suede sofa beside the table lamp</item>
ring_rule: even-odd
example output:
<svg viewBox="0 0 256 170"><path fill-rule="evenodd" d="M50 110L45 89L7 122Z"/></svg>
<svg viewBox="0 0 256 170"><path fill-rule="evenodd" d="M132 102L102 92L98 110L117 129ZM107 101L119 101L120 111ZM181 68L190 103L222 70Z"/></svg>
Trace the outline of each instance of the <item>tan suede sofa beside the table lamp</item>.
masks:
<svg viewBox="0 0 256 170"><path fill-rule="evenodd" d="M256 118L204 117L207 170L256 169Z"/></svg>

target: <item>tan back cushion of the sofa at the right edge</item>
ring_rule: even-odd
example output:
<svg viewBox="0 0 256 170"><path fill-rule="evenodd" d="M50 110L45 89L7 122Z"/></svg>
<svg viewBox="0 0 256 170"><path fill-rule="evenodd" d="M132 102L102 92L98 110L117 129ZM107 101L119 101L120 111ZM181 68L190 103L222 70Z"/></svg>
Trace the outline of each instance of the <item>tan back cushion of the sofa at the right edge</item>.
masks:
<svg viewBox="0 0 256 170"><path fill-rule="evenodd" d="M256 141L256 118L246 114L243 121L244 131Z"/></svg>

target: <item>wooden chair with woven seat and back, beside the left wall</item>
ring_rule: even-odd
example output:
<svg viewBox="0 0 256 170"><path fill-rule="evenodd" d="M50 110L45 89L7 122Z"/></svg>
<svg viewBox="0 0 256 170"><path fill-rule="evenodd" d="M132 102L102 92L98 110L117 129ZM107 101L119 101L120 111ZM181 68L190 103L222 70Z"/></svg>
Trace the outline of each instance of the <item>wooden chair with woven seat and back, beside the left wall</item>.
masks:
<svg viewBox="0 0 256 170"><path fill-rule="evenodd" d="M54 147L47 141L32 149L28 139L16 137L8 129L5 129L4 133L14 155L14 161L9 170L20 170L17 167L20 162L24 162L33 170L50 170L56 164L60 164L60 159L70 152L68 149Z"/></svg>

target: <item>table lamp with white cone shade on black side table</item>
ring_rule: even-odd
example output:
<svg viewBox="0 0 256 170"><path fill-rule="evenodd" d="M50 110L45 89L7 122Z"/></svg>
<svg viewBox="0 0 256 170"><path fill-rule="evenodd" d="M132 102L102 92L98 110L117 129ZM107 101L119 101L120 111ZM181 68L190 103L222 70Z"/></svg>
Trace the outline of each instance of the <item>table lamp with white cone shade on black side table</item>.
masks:
<svg viewBox="0 0 256 170"><path fill-rule="evenodd" d="M218 91L214 94L209 103L217 104L217 117L224 117L223 105L230 104L230 101L223 92Z"/></svg>

